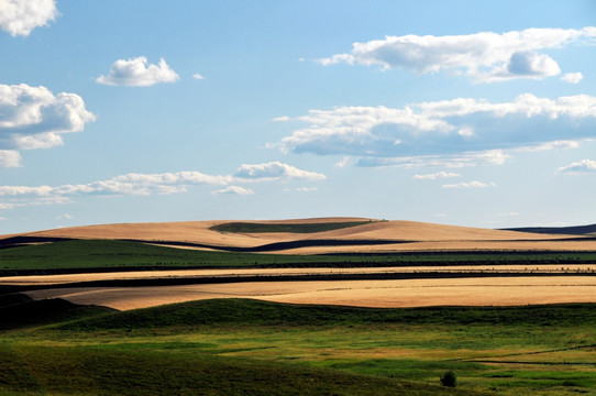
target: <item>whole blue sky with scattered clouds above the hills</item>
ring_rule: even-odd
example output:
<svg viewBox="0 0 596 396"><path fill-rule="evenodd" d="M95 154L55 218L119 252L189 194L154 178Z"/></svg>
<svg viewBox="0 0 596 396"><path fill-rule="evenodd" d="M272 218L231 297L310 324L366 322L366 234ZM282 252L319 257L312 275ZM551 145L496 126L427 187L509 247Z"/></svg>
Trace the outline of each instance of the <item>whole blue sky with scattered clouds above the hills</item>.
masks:
<svg viewBox="0 0 596 396"><path fill-rule="evenodd" d="M0 233L596 222L596 2L0 0Z"/></svg>

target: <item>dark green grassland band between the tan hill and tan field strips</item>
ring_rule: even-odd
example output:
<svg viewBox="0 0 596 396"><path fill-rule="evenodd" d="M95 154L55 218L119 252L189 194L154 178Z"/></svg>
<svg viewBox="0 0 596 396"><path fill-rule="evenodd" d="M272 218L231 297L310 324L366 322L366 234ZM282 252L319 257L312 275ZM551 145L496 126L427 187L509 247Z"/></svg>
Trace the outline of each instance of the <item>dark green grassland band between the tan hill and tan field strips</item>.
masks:
<svg viewBox="0 0 596 396"><path fill-rule="evenodd" d="M593 264L596 252L434 252L285 255L212 252L110 240L67 240L0 250L0 276L20 272L148 268Z"/></svg>

